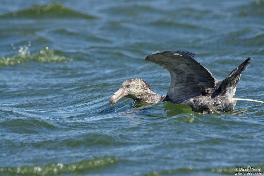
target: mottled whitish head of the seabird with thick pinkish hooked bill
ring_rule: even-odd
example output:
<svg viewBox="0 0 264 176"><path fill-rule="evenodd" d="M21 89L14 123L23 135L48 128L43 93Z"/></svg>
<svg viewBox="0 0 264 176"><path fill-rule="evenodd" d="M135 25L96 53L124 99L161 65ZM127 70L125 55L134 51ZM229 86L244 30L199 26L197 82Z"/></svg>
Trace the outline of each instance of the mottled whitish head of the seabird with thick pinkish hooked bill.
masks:
<svg viewBox="0 0 264 176"><path fill-rule="evenodd" d="M143 79L134 78L125 80L125 82L122 84L122 87L110 98L110 104L115 104L123 97L136 100L137 97L141 96L145 92L146 89L149 89L149 84Z"/></svg>

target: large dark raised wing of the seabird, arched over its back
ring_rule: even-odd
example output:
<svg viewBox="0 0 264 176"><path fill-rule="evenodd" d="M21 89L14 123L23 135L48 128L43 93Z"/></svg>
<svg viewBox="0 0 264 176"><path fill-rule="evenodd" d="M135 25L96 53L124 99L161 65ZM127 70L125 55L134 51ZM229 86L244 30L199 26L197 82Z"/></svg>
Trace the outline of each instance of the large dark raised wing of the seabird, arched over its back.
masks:
<svg viewBox="0 0 264 176"><path fill-rule="evenodd" d="M162 66L171 74L164 101L178 104L215 88L217 79L194 59L195 55L187 51L157 51L145 57L146 61Z"/></svg>

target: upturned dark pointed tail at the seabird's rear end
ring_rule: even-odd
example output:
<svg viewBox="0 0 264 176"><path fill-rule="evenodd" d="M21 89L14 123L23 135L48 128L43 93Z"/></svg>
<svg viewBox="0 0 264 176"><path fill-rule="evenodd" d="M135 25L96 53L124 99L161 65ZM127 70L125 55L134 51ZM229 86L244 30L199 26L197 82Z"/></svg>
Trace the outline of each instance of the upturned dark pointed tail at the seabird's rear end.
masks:
<svg viewBox="0 0 264 176"><path fill-rule="evenodd" d="M235 90L237 87L237 83L241 76L243 70L247 69L250 63L250 58L248 57L242 64L236 67L231 73L222 81L216 84L216 90L212 95L212 98L222 94L228 94L230 98L233 98L235 94Z"/></svg>

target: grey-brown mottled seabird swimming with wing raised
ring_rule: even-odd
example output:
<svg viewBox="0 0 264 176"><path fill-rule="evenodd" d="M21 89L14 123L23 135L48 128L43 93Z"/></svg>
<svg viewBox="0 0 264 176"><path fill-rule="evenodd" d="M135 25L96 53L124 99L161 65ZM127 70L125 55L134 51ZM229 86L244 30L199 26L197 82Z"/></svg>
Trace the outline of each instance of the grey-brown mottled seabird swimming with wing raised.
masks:
<svg viewBox="0 0 264 176"><path fill-rule="evenodd" d="M146 61L158 64L171 74L167 95L158 95L143 79L128 79L110 98L113 105L123 97L146 103L169 101L191 106L193 111L211 114L234 109L234 93L243 70L250 63L248 57L225 79L218 80L195 60L195 53L187 51L157 51L148 54Z"/></svg>

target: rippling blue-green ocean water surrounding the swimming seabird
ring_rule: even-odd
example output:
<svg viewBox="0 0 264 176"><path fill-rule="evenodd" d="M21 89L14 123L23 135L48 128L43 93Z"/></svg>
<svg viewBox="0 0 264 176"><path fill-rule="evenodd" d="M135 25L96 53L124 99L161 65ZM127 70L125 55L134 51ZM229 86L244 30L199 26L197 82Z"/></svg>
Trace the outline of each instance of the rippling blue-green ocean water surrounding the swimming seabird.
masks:
<svg viewBox="0 0 264 176"><path fill-rule="evenodd" d="M264 101L263 19L258 0L1 0L0 175L263 171L261 103L209 115L109 104L129 78L167 94L168 71L144 61L160 50L196 53L218 80L251 57L235 96Z"/></svg>

